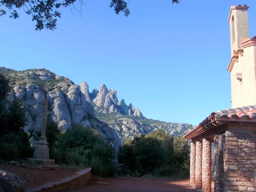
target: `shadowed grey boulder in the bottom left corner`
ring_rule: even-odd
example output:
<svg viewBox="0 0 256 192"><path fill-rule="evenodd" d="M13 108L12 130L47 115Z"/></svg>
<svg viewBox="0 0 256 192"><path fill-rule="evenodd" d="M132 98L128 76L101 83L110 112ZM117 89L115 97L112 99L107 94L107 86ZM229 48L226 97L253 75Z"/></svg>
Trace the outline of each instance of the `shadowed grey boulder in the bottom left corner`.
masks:
<svg viewBox="0 0 256 192"><path fill-rule="evenodd" d="M25 182L12 172L0 169L0 192L23 192Z"/></svg>

